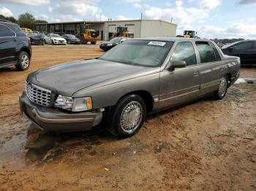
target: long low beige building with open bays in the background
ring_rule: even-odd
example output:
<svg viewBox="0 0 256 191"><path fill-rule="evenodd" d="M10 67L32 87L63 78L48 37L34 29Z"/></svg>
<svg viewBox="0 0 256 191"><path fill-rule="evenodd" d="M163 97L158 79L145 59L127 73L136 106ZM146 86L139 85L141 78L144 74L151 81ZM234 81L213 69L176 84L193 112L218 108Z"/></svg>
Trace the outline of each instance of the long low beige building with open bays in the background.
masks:
<svg viewBox="0 0 256 191"><path fill-rule="evenodd" d="M35 24L34 31L57 34L76 34L81 24L91 24L99 32L101 40L108 41L118 27L125 27L134 38L176 36L176 24L164 20L109 20L109 21L75 21L65 23Z"/></svg>

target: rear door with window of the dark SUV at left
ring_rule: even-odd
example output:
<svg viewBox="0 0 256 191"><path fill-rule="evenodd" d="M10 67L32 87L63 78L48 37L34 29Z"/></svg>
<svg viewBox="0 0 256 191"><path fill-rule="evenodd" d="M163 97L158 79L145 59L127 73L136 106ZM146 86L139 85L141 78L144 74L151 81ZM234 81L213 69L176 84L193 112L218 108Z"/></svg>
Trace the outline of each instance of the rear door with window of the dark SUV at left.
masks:
<svg viewBox="0 0 256 191"><path fill-rule="evenodd" d="M15 61L15 36L10 28L0 24L0 65Z"/></svg>

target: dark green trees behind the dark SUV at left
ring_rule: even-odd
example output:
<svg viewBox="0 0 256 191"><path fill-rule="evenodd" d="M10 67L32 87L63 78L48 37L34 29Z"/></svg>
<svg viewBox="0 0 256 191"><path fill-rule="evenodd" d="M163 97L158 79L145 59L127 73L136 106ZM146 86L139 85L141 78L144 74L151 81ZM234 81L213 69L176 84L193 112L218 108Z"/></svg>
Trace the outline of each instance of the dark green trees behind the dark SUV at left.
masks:
<svg viewBox="0 0 256 191"><path fill-rule="evenodd" d="M35 23L48 23L46 20L37 20L33 15L26 12L19 15L18 20L15 17L4 17L0 15L0 20L10 20L12 23L17 23L20 27L34 29Z"/></svg>

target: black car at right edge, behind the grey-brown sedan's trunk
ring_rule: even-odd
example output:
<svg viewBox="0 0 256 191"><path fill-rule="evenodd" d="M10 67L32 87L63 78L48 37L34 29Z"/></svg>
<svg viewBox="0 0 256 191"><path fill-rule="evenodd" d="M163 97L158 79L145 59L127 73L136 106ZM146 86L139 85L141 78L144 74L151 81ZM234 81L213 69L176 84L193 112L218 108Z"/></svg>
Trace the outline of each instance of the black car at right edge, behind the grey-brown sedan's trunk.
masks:
<svg viewBox="0 0 256 191"><path fill-rule="evenodd" d="M256 66L256 40L245 40L224 45L222 52L225 55L240 57L241 65Z"/></svg>

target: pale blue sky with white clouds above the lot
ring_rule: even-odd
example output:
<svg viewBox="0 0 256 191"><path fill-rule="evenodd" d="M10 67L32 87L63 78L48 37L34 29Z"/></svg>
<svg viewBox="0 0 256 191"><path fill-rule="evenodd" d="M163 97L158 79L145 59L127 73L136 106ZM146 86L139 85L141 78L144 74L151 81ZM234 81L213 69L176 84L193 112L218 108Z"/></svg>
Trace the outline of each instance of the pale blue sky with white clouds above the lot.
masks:
<svg viewBox="0 0 256 191"><path fill-rule="evenodd" d="M24 12L48 22L139 19L143 12L143 19L173 18L177 34L256 39L256 0L0 0L1 15Z"/></svg>

